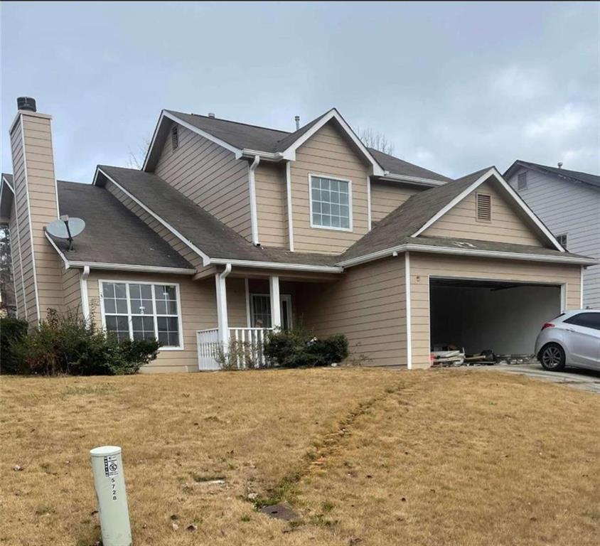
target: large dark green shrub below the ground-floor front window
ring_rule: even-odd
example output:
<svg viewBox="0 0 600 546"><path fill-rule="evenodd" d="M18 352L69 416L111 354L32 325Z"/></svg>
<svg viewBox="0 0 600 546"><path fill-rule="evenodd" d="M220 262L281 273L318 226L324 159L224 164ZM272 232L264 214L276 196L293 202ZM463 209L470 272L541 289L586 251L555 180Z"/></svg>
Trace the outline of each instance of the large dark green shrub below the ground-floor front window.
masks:
<svg viewBox="0 0 600 546"><path fill-rule="evenodd" d="M18 368L41 375L122 375L136 373L156 358L156 340L122 341L107 335L78 310L48 311L45 321L13 344Z"/></svg>

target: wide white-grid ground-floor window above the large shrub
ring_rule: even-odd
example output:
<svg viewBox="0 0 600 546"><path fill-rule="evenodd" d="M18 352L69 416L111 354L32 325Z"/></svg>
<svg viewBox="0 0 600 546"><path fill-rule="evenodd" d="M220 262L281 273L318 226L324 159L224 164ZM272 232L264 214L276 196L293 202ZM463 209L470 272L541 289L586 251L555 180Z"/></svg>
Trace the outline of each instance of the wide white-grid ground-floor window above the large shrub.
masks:
<svg viewBox="0 0 600 546"><path fill-rule="evenodd" d="M181 348L181 316L175 284L102 282L107 332L124 339L158 339L164 348Z"/></svg>

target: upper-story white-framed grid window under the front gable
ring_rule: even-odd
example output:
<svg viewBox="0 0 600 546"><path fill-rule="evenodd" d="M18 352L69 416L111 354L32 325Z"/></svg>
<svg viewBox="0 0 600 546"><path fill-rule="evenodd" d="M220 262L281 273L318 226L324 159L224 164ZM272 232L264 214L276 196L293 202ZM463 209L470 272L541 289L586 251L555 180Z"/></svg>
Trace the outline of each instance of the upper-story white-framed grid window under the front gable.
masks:
<svg viewBox="0 0 600 546"><path fill-rule="evenodd" d="M313 174L309 181L311 228L352 231L352 183Z"/></svg>

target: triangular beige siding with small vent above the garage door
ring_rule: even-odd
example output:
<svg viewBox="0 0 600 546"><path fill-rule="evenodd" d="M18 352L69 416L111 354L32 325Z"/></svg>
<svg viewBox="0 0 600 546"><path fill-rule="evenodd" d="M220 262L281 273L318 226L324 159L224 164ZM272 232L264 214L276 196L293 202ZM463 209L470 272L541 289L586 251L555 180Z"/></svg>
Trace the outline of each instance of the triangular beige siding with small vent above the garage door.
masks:
<svg viewBox="0 0 600 546"><path fill-rule="evenodd" d="M476 220L477 193L491 196L491 222ZM515 203L509 203L493 184L484 182L427 228L422 235L544 246L542 239L530 227L531 220L525 220L524 215L516 211Z"/></svg>

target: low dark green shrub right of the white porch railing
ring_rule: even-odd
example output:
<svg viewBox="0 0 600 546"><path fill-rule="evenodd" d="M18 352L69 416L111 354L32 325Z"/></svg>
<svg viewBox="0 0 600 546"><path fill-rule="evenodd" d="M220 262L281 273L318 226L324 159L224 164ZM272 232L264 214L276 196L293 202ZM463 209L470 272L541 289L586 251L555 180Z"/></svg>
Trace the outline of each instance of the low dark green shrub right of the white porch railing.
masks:
<svg viewBox="0 0 600 546"><path fill-rule="evenodd" d="M318 339L304 328L272 331L267 333L264 356L282 368L328 366L348 357L348 339L341 334Z"/></svg>

